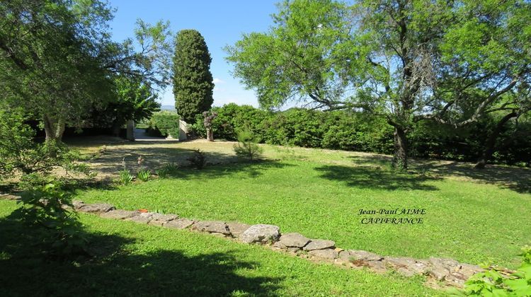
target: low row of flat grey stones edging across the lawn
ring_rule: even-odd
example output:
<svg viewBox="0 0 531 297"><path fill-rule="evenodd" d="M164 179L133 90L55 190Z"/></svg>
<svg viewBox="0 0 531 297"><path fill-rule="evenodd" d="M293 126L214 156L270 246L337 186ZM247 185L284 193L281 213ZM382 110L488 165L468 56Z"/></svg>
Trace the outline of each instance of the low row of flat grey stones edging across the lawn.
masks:
<svg viewBox="0 0 531 297"><path fill-rule="evenodd" d="M4 195L4 199L18 199L13 195ZM428 277L429 284L462 287L464 281L477 272L483 271L474 264L459 263L456 260L430 257L413 259L411 257L386 257L365 250L343 250L337 248L332 240L310 239L299 233L280 233L273 225L224 221L196 221L181 218L176 214L157 214L144 211L115 209L105 203L86 204L74 201L76 211L97 214L107 219L118 219L145 223L166 228L188 229L210 233L223 238L232 238L242 243L267 245L273 250L288 252L317 262L331 262L352 269L367 268L377 273L392 269L404 276L422 274Z"/></svg>

